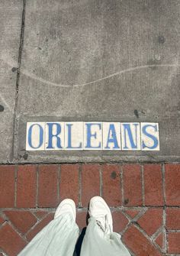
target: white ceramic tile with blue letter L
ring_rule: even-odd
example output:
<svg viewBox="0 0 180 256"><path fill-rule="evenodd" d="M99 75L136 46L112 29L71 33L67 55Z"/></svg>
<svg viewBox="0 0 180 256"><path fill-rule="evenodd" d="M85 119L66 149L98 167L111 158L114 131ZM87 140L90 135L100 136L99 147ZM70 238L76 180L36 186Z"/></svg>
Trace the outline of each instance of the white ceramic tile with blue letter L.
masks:
<svg viewBox="0 0 180 256"><path fill-rule="evenodd" d="M65 150L83 150L83 122L65 123Z"/></svg>

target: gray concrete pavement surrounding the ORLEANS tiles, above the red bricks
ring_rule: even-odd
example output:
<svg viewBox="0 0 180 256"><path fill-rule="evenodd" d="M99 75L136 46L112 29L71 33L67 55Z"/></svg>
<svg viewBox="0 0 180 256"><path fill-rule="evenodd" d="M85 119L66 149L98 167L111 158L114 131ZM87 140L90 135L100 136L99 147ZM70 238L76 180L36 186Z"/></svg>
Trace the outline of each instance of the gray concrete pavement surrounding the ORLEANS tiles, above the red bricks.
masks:
<svg viewBox="0 0 180 256"><path fill-rule="evenodd" d="M23 34L23 2L0 6L0 162L180 160L178 0L27 0ZM160 151L26 152L35 121L159 122Z"/></svg>

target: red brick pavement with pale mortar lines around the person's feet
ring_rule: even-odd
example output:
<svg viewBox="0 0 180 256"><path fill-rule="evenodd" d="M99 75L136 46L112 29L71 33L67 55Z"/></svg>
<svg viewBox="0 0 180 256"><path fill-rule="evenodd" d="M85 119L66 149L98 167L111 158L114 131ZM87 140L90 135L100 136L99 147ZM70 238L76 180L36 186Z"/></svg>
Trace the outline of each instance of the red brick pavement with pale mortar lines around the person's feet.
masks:
<svg viewBox="0 0 180 256"><path fill-rule="evenodd" d="M95 195L111 206L114 231L133 255L180 254L180 164L1 166L0 195L0 255L17 255L66 197L85 227Z"/></svg>

